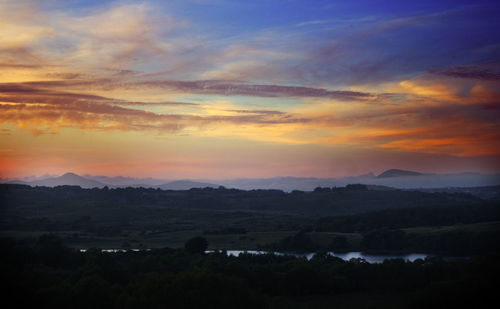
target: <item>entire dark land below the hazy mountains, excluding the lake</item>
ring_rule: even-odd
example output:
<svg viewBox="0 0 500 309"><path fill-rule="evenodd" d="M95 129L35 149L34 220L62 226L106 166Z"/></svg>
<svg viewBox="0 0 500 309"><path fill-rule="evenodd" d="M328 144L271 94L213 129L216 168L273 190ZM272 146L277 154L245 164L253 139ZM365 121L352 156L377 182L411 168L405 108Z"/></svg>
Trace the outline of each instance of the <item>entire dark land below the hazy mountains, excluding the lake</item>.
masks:
<svg viewBox="0 0 500 309"><path fill-rule="evenodd" d="M500 278L500 203L490 196L0 185L4 299L23 308L479 307ZM225 253L256 249L269 253ZM329 254L347 251L427 258Z"/></svg>

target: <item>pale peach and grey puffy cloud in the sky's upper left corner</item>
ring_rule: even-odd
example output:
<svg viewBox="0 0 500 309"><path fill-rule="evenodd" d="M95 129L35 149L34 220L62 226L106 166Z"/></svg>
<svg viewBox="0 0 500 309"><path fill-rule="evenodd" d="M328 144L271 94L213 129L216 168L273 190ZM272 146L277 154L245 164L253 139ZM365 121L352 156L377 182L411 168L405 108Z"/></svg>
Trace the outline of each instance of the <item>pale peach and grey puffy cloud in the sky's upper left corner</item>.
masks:
<svg viewBox="0 0 500 309"><path fill-rule="evenodd" d="M130 72L123 67L166 61L172 44L179 43L169 42L167 34L187 25L145 2L105 4L77 12L44 5L0 3L0 63L6 64L0 69L56 63L82 71L106 66L120 74Z"/></svg>

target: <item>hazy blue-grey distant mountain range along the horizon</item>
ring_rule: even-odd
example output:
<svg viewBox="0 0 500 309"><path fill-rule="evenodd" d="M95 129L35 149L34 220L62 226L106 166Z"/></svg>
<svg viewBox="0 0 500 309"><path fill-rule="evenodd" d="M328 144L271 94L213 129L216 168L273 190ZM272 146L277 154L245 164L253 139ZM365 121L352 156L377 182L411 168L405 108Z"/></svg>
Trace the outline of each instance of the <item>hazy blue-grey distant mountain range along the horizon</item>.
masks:
<svg viewBox="0 0 500 309"><path fill-rule="evenodd" d="M312 177L273 177L273 178L239 178L239 179L195 179L169 181L154 178L131 177L85 177L68 173L61 177L48 179L38 178L36 181L24 179L2 179L3 183L27 184L31 186L54 187L59 185L77 185L82 188L144 187L164 190L189 190L191 188L235 188L241 190L275 189L291 192L293 190L313 191L317 187L344 187L348 184L365 184L369 190L386 190L386 187L398 189L432 189L432 188L466 188L500 185L500 174L457 173L427 174L408 170L390 169L378 176L372 173L343 178Z"/></svg>

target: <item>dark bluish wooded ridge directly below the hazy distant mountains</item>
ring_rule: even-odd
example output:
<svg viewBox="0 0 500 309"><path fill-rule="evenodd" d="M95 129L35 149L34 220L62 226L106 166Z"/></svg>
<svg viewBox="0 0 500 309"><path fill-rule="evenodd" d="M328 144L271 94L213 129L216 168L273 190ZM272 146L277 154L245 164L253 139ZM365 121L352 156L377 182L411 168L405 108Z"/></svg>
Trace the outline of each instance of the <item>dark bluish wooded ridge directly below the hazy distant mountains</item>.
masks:
<svg viewBox="0 0 500 309"><path fill-rule="evenodd" d="M285 213L301 216L349 215L380 209L415 206L473 205L482 200L468 193L369 190L365 185L316 188L314 192L204 188L172 191L146 188L82 189L78 186L30 187L0 184L0 198L8 206L110 207L203 209Z"/></svg>

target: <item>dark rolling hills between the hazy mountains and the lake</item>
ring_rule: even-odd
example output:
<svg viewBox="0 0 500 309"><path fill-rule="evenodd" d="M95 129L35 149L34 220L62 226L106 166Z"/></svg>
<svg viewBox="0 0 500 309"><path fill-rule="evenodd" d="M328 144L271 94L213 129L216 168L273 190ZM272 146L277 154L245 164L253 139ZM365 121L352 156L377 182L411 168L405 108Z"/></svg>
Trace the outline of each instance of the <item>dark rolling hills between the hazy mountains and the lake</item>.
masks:
<svg viewBox="0 0 500 309"><path fill-rule="evenodd" d="M33 243L52 233L74 248L182 248L203 235L212 250L500 252L499 188L468 191L483 198L364 185L290 193L0 185L0 235Z"/></svg>

